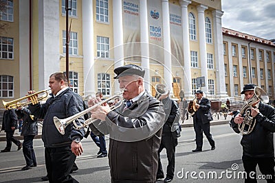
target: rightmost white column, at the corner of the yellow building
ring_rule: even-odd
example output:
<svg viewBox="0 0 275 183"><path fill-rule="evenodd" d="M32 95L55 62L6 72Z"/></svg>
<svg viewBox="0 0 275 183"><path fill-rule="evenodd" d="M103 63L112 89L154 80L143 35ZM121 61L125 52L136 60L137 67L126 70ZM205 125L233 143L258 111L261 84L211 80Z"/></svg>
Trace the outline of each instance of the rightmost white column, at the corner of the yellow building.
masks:
<svg viewBox="0 0 275 183"><path fill-rule="evenodd" d="M214 37L214 62L216 64L216 91L220 98L228 97L225 88L225 70L223 60L223 34L221 27L221 16L223 12L213 10L213 37ZM240 52L239 52L240 53Z"/></svg>

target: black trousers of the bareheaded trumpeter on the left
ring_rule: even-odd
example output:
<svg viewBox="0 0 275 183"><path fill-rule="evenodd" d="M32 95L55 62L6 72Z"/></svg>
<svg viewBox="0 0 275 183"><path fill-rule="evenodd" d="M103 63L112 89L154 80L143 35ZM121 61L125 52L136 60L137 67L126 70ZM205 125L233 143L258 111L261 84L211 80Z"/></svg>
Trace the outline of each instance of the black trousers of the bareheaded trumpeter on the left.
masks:
<svg viewBox="0 0 275 183"><path fill-rule="evenodd" d="M45 164L49 182L78 182L69 172L71 171L76 155L71 146L45 147Z"/></svg>

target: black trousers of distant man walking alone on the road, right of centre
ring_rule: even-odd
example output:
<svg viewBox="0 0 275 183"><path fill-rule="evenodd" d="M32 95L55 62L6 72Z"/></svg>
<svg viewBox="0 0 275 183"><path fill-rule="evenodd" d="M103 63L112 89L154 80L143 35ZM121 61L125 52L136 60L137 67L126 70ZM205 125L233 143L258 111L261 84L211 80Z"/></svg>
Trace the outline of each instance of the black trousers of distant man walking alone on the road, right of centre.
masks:
<svg viewBox="0 0 275 183"><path fill-rule="evenodd" d="M214 140L212 138L212 134L210 134L210 123L203 124L201 121L197 120L194 123L194 129L196 133L196 145L197 149L202 149L203 144L203 134L206 135L206 138L211 146L214 146Z"/></svg>

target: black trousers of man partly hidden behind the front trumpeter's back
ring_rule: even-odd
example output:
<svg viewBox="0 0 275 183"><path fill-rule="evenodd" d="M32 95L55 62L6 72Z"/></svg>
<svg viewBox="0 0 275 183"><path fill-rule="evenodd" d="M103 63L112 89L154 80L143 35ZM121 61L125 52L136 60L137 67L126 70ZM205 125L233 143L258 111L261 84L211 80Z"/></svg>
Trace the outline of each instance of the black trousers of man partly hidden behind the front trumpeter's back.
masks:
<svg viewBox="0 0 275 183"><path fill-rule="evenodd" d="M159 156L162 149L166 149L168 165L166 171L166 178L173 179L175 172L175 147L177 146L177 138L173 138L172 136L162 136L162 143L160 143L159 150L157 154ZM164 171L162 169L162 162L160 161L157 167L157 177L164 177Z"/></svg>

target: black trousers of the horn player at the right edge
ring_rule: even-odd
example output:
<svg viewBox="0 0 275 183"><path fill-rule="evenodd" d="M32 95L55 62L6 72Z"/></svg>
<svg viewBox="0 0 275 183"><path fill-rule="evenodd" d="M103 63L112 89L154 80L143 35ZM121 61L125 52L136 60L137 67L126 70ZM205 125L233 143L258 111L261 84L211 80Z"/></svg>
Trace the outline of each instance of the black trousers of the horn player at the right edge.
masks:
<svg viewBox="0 0 275 183"><path fill-rule="evenodd" d="M256 166L258 164L259 169L262 173L262 175L265 175L267 178L268 176L271 176L270 179L266 179L267 182L275 182L275 173L274 173L274 157L270 158L251 158L249 156L243 156L243 167L245 168L245 171L247 173L247 179L245 179L245 183L253 183L257 182L256 178ZM250 177L250 172L255 172L252 174L253 178Z"/></svg>

